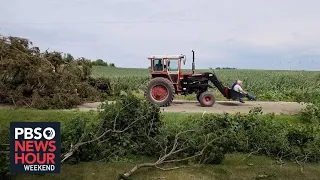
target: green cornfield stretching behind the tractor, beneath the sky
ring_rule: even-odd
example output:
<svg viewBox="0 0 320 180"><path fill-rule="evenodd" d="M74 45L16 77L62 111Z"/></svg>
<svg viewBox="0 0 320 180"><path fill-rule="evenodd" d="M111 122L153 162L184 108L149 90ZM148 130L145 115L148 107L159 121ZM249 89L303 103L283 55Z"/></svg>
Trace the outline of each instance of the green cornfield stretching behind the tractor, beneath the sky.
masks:
<svg viewBox="0 0 320 180"><path fill-rule="evenodd" d="M190 70L184 70L190 72ZM212 72L209 69L196 72ZM303 101L306 93L320 93L319 71L281 71L281 70L214 70L223 85L231 87L241 79L243 88L264 101ZM94 66L93 77L109 78L112 85L121 85L124 89L141 91L150 78L148 69L112 68ZM223 100L220 92L214 88L218 100Z"/></svg>

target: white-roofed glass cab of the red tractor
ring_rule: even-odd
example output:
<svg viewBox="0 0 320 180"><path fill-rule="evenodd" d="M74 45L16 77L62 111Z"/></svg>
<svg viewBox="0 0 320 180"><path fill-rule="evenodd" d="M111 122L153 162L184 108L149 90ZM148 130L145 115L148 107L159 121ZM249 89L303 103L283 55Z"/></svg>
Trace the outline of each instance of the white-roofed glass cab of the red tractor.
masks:
<svg viewBox="0 0 320 180"><path fill-rule="evenodd" d="M181 62L185 62L185 56L150 56L152 78L164 77L173 84L178 84L181 72Z"/></svg>

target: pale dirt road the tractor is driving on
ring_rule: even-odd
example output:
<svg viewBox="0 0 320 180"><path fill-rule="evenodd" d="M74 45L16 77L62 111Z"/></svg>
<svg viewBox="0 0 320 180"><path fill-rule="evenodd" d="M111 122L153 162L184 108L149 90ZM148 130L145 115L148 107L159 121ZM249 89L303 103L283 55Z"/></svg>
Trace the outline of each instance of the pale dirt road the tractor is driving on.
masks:
<svg viewBox="0 0 320 180"><path fill-rule="evenodd" d="M100 103L86 103L78 106L79 110L96 110ZM254 107L262 107L264 113L296 114L305 107L296 102L246 102L242 104L236 101L217 101L213 107L201 107L197 101L174 101L171 106L161 108L164 112L186 113L248 113Z"/></svg>

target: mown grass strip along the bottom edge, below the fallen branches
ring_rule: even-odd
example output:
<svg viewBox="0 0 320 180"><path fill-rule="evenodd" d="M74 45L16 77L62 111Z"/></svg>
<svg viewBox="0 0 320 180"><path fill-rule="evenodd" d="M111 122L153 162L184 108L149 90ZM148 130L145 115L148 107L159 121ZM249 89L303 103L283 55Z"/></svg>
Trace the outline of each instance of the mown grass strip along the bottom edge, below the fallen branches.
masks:
<svg viewBox="0 0 320 180"><path fill-rule="evenodd" d="M62 165L61 174L55 175L17 175L14 179L69 179L69 180L116 180L118 174L130 170L136 163L151 159L140 159L133 162L86 162L76 165ZM141 169L133 175L135 180L316 180L320 176L320 164L305 164L304 173L301 166L284 162L281 166L274 159L264 156L246 154L228 154L219 165L190 165L173 171Z"/></svg>

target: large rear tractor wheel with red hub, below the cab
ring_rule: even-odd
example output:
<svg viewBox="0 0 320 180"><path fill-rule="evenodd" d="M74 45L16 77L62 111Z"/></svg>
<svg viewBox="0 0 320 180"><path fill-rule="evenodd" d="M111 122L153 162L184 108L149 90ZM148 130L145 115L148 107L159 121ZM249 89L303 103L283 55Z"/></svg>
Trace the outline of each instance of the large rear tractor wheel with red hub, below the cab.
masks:
<svg viewBox="0 0 320 180"><path fill-rule="evenodd" d="M174 94L175 88L172 82L163 77L151 79L144 92L146 99L159 107L170 106Z"/></svg>

